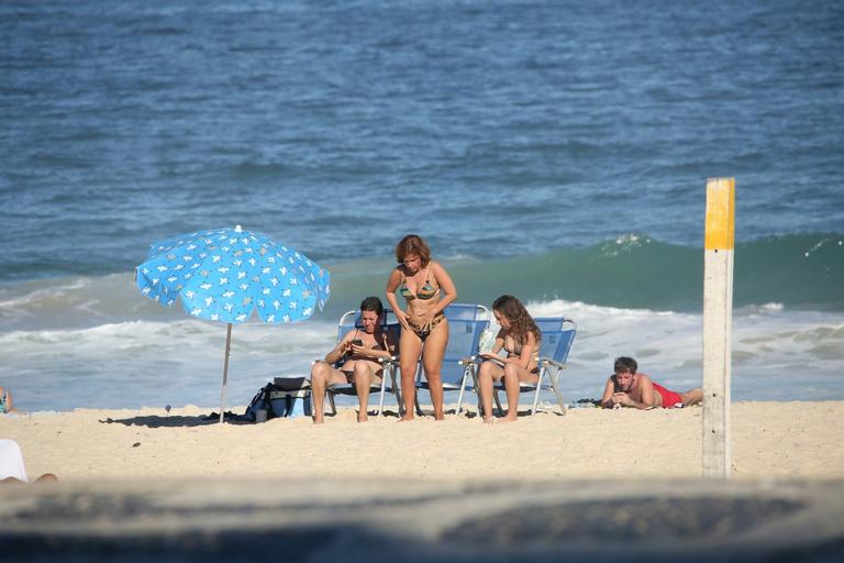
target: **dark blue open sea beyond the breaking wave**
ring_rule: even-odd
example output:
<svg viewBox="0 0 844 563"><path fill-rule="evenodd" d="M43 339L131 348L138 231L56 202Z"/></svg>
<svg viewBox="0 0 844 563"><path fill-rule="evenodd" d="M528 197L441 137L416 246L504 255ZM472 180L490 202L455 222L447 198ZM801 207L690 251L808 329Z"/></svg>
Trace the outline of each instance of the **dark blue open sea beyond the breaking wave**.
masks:
<svg viewBox="0 0 844 563"><path fill-rule="evenodd" d="M242 223L315 260L844 233L839 2L3 2L1 280ZM358 234L348 236L348 231Z"/></svg>

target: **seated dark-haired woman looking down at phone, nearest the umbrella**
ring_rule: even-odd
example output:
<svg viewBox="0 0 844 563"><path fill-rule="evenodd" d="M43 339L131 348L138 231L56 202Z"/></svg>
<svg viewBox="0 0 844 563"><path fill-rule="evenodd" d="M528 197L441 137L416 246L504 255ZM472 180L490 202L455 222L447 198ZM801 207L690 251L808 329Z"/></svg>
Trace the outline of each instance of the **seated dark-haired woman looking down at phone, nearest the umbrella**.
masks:
<svg viewBox="0 0 844 563"><path fill-rule="evenodd" d="M396 336L382 325L384 303L377 297L360 302L360 329L348 331L325 360L311 367L313 394L313 421L324 420L325 388L336 384L354 384L360 410L358 422L366 422L369 408L369 388L384 377L384 366L378 362L395 355ZM340 363L338 367L334 367Z"/></svg>

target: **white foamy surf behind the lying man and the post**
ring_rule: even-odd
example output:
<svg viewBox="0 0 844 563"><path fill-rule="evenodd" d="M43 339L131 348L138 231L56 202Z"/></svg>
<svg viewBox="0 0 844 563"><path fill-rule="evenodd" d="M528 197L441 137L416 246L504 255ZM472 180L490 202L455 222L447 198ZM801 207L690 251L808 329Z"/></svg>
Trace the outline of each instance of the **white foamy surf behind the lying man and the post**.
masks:
<svg viewBox="0 0 844 563"><path fill-rule="evenodd" d="M531 302L536 317L578 323L567 379L575 395L593 397L619 355L680 390L702 384L701 314L618 309L563 300ZM844 397L844 323L839 314L788 311L767 303L736 310L732 327L736 399Z"/></svg>

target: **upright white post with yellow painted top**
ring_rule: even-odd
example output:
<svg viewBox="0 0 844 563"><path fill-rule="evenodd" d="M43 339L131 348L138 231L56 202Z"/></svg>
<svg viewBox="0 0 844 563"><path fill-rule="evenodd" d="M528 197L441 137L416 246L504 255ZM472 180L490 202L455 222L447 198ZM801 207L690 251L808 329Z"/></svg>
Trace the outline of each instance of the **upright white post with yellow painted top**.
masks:
<svg viewBox="0 0 844 563"><path fill-rule="evenodd" d="M733 324L735 178L707 180L703 261L703 476L731 471L730 336Z"/></svg>

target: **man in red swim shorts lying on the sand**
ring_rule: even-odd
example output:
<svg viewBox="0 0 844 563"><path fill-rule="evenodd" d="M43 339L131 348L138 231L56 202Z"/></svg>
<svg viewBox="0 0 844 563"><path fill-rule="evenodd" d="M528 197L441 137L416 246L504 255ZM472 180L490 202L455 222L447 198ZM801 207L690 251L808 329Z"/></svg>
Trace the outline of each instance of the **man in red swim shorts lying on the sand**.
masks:
<svg viewBox="0 0 844 563"><path fill-rule="evenodd" d="M700 387L686 393L676 393L655 383L649 375L640 374L638 364L632 357L617 357L614 371L615 373L607 379L603 397L601 397L601 406L606 409L619 407L670 409L697 405L703 400L703 390Z"/></svg>

